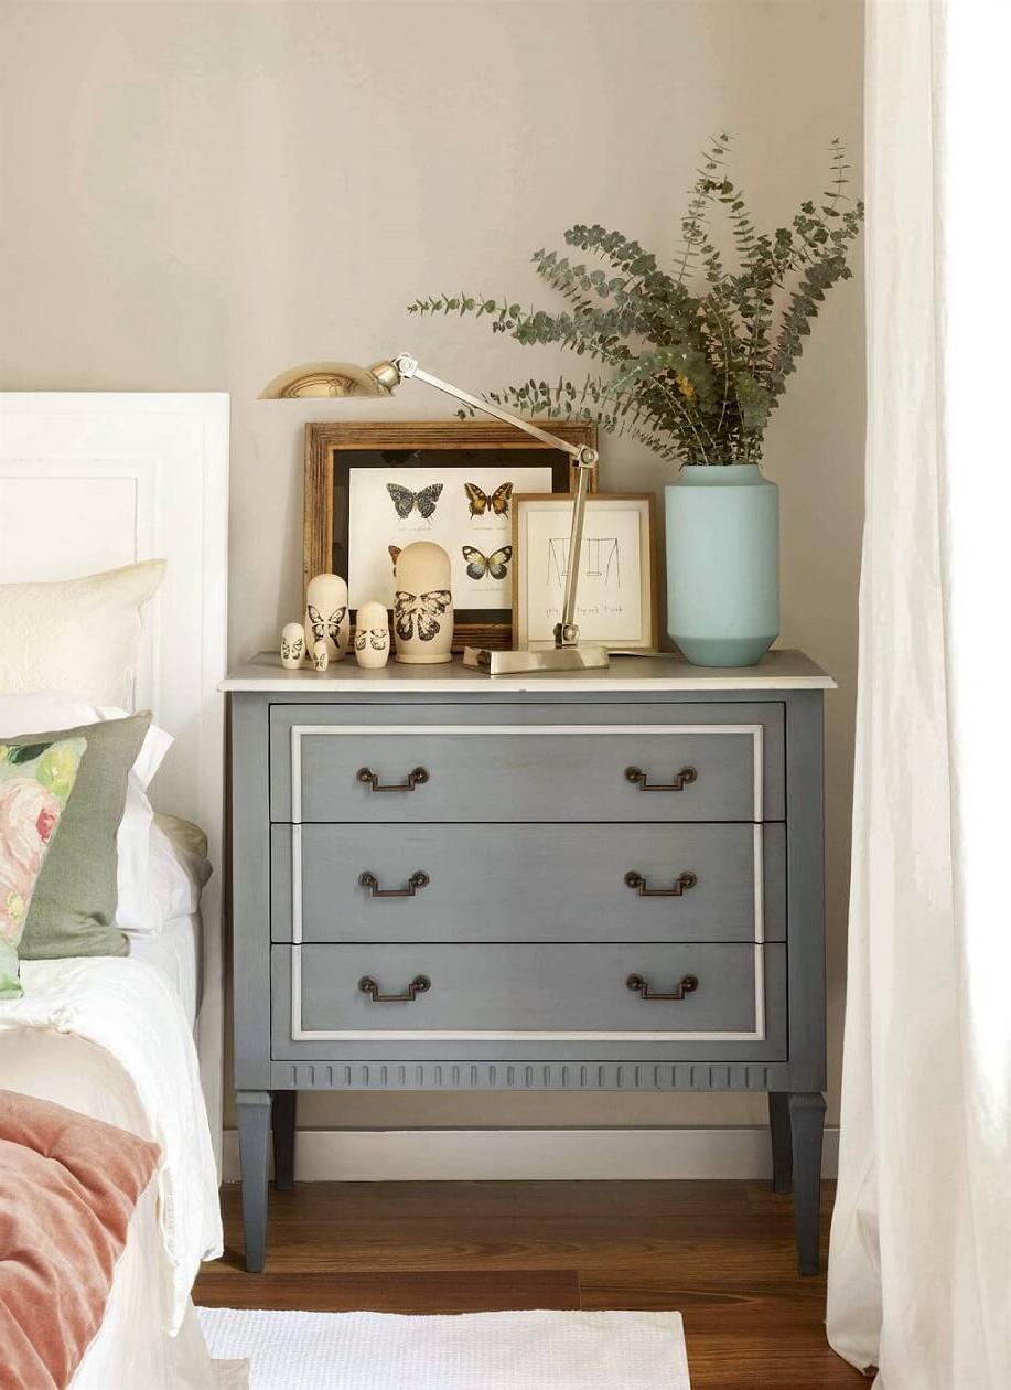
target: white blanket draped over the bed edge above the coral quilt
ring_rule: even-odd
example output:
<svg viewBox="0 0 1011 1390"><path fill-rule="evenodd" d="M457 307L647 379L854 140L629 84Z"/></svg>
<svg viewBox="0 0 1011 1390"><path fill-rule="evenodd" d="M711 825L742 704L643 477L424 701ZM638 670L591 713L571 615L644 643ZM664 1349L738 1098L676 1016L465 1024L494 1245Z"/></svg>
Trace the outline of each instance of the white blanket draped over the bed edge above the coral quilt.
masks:
<svg viewBox="0 0 1011 1390"><path fill-rule="evenodd" d="M21 980L24 998L0 1002L4 1086L111 1123L122 1123L114 1116L132 1090L144 1136L161 1145L158 1223L171 1268L164 1316L176 1332L200 1261L222 1252L218 1177L190 1022L168 980L133 958L24 960ZM54 1036L68 1045L54 1048ZM58 1073L54 1055L62 1058Z"/></svg>

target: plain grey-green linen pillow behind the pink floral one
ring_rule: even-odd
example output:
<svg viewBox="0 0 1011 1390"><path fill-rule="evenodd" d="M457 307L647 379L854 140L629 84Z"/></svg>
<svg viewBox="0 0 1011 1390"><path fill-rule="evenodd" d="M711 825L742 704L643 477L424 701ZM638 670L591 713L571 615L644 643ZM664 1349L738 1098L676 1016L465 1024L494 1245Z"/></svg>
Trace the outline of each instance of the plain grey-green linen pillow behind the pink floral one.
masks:
<svg viewBox="0 0 1011 1390"><path fill-rule="evenodd" d="M150 710L83 724L57 734L22 734L11 744L85 738L78 783L60 838L39 874L21 940L22 960L129 955L117 927L115 835L126 805L126 780L151 723Z"/></svg>

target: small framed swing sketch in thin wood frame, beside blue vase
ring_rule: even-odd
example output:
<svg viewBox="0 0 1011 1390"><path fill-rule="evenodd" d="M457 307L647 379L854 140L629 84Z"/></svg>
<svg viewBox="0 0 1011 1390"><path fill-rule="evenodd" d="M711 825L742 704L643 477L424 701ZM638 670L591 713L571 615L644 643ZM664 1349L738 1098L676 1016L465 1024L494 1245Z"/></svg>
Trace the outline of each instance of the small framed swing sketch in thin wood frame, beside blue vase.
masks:
<svg viewBox="0 0 1011 1390"><path fill-rule="evenodd" d="M512 641L554 645L571 563L572 498L512 499ZM651 492L597 492L586 502L576 589L579 639L611 652L657 649Z"/></svg>

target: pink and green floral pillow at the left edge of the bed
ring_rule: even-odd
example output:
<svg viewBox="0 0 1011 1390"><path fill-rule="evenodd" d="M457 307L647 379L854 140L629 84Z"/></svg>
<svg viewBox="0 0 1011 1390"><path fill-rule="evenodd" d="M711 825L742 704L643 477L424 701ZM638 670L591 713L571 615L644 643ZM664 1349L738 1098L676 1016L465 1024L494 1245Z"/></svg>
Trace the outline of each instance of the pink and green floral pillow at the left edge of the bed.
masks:
<svg viewBox="0 0 1011 1390"><path fill-rule="evenodd" d="M21 998L18 942L86 738L0 744L0 999Z"/></svg>

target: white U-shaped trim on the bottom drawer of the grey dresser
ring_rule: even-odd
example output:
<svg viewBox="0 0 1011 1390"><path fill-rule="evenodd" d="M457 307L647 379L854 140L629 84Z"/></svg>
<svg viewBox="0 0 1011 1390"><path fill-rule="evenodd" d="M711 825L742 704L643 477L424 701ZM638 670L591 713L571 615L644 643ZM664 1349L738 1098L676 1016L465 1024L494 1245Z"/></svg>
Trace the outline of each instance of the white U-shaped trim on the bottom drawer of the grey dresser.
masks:
<svg viewBox="0 0 1011 1390"><path fill-rule="evenodd" d="M579 949L578 945L575 949ZM436 1030L407 1029L376 1031L375 1029L303 1029L301 1026L301 947L290 948L292 970L292 1042L764 1042L765 1041L765 952L754 948L754 1030L751 1033L686 1033L686 1031L610 1031L583 1033L575 1030L542 1031L492 1029Z"/></svg>

